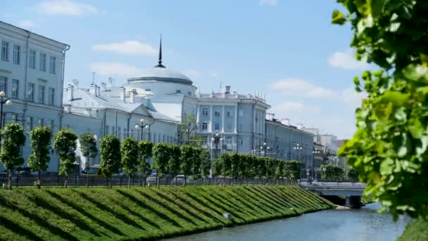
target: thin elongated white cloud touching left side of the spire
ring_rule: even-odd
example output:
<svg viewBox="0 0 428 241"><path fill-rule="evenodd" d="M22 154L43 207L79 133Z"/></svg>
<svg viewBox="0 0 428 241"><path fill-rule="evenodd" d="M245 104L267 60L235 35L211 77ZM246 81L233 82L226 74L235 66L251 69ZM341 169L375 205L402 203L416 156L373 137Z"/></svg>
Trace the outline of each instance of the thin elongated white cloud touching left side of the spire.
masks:
<svg viewBox="0 0 428 241"><path fill-rule="evenodd" d="M113 51L125 55L155 56L157 50L150 44L144 44L137 40L127 40L122 43L97 44L92 47L94 51Z"/></svg>

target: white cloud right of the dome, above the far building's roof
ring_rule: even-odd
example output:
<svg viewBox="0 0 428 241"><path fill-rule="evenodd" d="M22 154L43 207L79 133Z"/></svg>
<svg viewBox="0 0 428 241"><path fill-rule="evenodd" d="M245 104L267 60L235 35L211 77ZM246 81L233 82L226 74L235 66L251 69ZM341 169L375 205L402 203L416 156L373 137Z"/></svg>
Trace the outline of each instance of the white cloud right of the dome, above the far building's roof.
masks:
<svg viewBox="0 0 428 241"><path fill-rule="evenodd" d="M285 78L270 84L271 89L276 89L286 96L329 98L336 97L337 93L332 89L326 89L296 78Z"/></svg>

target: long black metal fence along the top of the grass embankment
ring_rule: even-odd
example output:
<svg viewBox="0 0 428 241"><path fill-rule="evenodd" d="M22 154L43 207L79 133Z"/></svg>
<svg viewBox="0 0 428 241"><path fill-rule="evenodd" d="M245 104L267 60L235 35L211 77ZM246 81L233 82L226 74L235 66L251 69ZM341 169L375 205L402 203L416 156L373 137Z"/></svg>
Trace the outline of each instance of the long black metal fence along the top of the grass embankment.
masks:
<svg viewBox="0 0 428 241"><path fill-rule="evenodd" d="M37 175L12 175L11 183L14 187L32 187L37 183ZM67 185L71 187L108 187L127 186L127 176L113 176L104 178L101 176L86 175L40 175L40 185L49 187ZM134 176L130 179L131 186L153 186L153 185L184 185L184 178L144 178ZM259 179L259 178L187 178L186 185L298 185L297 180L284 179ZM0 175L0 185L8 185L8 175Z"/></svg>

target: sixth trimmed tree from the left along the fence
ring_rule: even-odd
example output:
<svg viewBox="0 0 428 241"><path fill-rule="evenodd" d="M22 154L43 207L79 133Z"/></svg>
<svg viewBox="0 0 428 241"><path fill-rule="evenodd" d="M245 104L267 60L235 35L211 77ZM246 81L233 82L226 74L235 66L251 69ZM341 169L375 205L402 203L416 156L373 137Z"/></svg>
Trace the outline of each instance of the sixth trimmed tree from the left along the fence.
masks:
<svg viewBox="0 0 428 241"><path fill-rule="evenodd" d="M131 176L137 171L139 163L139 146L134 137L122 140L120 144L120 155L122 156L123 172L128 174L128 188L131 187Z"/></svg>

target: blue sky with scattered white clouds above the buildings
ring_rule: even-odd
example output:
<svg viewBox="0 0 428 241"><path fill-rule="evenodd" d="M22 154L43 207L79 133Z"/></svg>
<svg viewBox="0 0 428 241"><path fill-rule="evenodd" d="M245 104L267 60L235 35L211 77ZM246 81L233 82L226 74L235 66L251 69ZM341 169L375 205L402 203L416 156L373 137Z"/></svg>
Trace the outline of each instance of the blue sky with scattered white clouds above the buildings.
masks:
<svg viewBox="0 0 428 241"><path fill-rule="evenodd" d="M231 85L264 94L275 118L352 137L367 67L349 47L349 25L330 23L334 0L15 0L0 20L70 45L65 85L109 77L115 85L157 64L189 76L201 92Z"/></svg>

